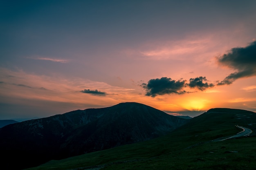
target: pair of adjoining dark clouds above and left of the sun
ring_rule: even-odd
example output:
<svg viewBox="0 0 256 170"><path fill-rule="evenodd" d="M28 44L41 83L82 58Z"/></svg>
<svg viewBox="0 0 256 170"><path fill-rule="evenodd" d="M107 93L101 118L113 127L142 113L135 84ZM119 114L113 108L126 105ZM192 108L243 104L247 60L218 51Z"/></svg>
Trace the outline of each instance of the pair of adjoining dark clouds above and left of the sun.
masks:
<svg viewBox="0 0 256 170"><path fill-rule="evenodd" d="M191 93L185 91L185 87L196 88L200 91L204 91L207 88L211 88L214 84L208 84L206 77L196 77L189 79L189 83L186 80L173 80L168 77L162 77L160 79L150 79L148 84L142 83L141 86L146 89L146 96L155 97L157 95L165 94L178 94L182 95L184 93Z"/></svg>

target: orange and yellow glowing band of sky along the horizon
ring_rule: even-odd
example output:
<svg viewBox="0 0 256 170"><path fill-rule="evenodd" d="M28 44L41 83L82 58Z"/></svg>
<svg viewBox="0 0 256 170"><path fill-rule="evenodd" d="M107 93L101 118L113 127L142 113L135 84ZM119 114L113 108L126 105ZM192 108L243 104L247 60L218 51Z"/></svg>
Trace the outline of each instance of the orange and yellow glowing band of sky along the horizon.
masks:
<svg viewBox="0 0 256 170"><path fill-rule="evenodd" d="M8 77L8 75L11 75L11 77ZM252 81L255 78L248 79L251 84L243 86L239 91L237 89L244 85L244 80L238 80L232 86L217 86L207 91L197 91L195 89L191 93L157 95L156 97L146 96L144 89L140 86L123 88L74 77L64 79L57 76L48 77L29 74L24 71L14 72L2 69L0 78L2 79L0 95L4 97L4 102L13 103L15 101L20 105L29 102L28 107L34 105L41 108L45 108L45 103L51 103L49 109L51 108L53 111L49 114L61 114L77 109L104 108L122 102L145 104L166 113L170 112L171 115L177 115L177 113L183 111L207 111L216 107L245 110L252 108L250 111L254 111L256 101L254 97L255 86ZM104 91L106 96L81 93L83 89L89 88ZM186 89L186 91L189 91L189 89ZM233 93L233 91L236 91L236 93ZM58 113L54 111L56 110L56 104L58 106L63 105L58 108Z"/></svg>

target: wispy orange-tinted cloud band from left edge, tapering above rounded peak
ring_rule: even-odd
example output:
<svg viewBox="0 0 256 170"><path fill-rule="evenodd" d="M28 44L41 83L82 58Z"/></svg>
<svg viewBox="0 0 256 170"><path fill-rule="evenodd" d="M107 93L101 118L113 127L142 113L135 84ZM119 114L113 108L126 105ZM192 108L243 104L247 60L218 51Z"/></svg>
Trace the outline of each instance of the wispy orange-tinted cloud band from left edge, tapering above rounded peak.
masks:
<svg viewBox="0 0 256 170"><path fill-rule="evenodd" d="M133 97L132 94L137 93L134 89L111 86L105 82L55 74L36 75L6 68L0 68L0 80L0 96L19 99L92 105L97 103L109 106L124 102ZM90 98L81 93L81 89L85 89L83 93L91 94ZM90 89L101 89L101 91ZM103 99L100 96L106 97Z"/></svg>

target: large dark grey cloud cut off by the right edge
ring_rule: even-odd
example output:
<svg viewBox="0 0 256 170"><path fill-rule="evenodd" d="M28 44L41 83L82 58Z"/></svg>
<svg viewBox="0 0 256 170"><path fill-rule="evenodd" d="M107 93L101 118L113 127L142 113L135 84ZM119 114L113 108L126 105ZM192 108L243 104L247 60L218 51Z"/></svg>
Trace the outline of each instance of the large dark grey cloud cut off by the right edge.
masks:
<svg viewBox="0 0 256 170"><path fill-rule="evenodd" d="M246 47L237 47L217 58L219 64L233 68L231 73L217 85L232 84L236 79L256 75L256 41Z"/></svg>

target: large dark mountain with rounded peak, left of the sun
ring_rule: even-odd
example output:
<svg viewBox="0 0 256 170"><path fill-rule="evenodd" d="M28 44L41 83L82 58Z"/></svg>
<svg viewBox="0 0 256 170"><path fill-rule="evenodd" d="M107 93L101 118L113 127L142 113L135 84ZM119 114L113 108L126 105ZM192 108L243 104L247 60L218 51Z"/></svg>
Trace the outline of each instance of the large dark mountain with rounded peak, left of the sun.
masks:
<svg viewBox="0 0 256 170"><path fill-rule="evenodd" d="M146 141L188 121L139 103L23 121L0 128L0 150L6 155L1 167L29 168L52 159Z"/></svg>

